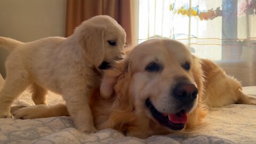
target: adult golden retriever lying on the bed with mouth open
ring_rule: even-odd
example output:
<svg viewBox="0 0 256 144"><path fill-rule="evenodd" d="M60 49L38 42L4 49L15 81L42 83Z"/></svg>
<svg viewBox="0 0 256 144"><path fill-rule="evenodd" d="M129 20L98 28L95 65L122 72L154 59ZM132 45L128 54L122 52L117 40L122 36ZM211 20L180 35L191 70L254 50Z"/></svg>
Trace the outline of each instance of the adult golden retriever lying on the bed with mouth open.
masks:
<svg viewBox="0 0 256 144"><path fill-rule="evenodd" d="M100 90L91 95L97 129L111 128L139 138L195 127L202 123L207 106L256 104L256 98L244 94L241 84L212 61L196 58L170 39L135 46L105 71ZM65 104L15 112L15 117L24 119L60 115L68 115Z"/></svg>

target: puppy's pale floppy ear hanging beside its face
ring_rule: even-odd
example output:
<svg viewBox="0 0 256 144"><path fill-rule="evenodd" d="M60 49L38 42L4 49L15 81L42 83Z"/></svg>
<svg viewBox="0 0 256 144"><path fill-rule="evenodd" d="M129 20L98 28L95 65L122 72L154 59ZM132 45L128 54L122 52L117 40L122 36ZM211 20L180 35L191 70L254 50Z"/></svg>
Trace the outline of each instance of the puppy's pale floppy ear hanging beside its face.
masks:
<svg viewBox="0 0 256 144"><path fill-rule="evenodd" d="M87 21L75 30L78 44L81 45L85 57L98 67L104 60L104 33L105 27L101 25L91 25Z"/></svg>

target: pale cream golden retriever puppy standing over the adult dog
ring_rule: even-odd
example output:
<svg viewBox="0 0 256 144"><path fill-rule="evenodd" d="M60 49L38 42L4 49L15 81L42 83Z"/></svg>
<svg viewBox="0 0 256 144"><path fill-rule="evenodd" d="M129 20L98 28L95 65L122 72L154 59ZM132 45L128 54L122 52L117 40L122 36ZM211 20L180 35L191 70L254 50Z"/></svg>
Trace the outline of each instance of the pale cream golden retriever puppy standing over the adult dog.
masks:
<svg viewBox="0 0 256 144"><path fill-rule="evenodd" d="M11 51L6 60L6 82L0 92L0 117L12 117L13 100L31 84L36 105L46 104L47 90L59 93L77 128L97 131L89 93L100 86L102 70L122 59L125 38L124 29L106 15L84 21L68 38L22 43L0 37L0 46Z"/></svg>

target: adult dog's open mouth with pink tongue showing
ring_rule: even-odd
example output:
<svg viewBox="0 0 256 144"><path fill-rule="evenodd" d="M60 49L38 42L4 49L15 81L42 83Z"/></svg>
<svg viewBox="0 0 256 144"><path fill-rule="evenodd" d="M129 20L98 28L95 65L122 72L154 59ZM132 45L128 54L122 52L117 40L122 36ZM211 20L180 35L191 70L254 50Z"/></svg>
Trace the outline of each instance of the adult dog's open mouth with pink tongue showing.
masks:
<svg viewBox="0 0 256 144"><path fill-rule="evenodd" d="M156 110L149 99L146 100L146 106L150 110L153 117L163 126L168 127L171 130L182 130L187 122L187 114L184 111L180 111L176 114L162 114Z"/></svg>

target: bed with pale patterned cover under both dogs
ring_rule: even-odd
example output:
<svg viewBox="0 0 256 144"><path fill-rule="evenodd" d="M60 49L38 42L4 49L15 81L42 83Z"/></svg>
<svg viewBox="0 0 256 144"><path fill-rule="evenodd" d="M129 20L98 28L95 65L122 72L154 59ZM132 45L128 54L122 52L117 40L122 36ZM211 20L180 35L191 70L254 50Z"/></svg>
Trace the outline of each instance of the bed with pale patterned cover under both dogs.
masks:
<svg viewBox="0 0 256 144"><path fill-rule="evenodd" d="M0 87L3 79L0 75ZM256 97L256 86L243 91ZM62 102L60 95L49 93L49 105ZM34 105L28 90L13 103L13 108ZM189 132L154 135L147 139L125 137L105 129L94 134L79 132L70 117L38 119L0 119L0 143L256 143L256 106L229 105L211 108L204 123Z"/></svg>

